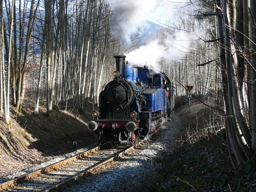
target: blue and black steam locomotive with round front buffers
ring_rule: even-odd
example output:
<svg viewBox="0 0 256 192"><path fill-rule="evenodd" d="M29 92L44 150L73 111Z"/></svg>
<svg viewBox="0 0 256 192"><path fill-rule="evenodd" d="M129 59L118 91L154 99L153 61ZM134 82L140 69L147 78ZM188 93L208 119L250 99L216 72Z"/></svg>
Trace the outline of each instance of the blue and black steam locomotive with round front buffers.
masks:
<svg viewBox="0 0 256 192"><path fill-rule="evenodd" d="M99 111L87 125L98 135L100 145L125 143L134 146L156 131L174 108L172 81L164 73L132 67L123 55L114 56L113 80L102 87Z"/></svg>

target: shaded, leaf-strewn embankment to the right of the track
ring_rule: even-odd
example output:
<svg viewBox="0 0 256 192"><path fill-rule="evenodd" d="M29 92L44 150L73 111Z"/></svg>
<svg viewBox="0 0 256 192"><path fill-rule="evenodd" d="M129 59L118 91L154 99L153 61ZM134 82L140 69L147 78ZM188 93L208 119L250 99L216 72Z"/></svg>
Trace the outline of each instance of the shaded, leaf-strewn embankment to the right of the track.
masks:
<svg viewBox="0 0 256 192"><path fill-rule="evenodd" d="M153 176L137 191L256 191L255 162L236 169L231 165L221 112L195 100L189 106L187 98L181 98L174 111L182 125L183 137L176 140L180 145L156 159Z"/></svg>

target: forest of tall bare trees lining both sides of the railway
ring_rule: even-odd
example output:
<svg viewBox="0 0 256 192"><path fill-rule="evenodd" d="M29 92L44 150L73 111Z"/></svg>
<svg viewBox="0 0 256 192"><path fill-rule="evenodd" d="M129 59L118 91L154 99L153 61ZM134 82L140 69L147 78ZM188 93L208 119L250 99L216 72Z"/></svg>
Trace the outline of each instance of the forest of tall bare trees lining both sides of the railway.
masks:
<svg viewBox="0 0 256 192"><path fill-rule="evenodd" d="M111 80L114 55L159 39L159 44L180 51L158 60L176 83L176 97L187 94L186 85L194 86L196 98L211 95L213 102L206 105L222 116L233 166L255 159L254 0L184 0L173 9L175 16L158 23L158 33L145 40L138 29L129 44L108 1L0 2L0 110L6 124L10 105L22 112L26 97L34 102L35 115L39 106L46 107L48 116L53 107L84 112L88 102L98 103L103 84ZM181 32L189 37L189 46L165 42Z"/></svg>

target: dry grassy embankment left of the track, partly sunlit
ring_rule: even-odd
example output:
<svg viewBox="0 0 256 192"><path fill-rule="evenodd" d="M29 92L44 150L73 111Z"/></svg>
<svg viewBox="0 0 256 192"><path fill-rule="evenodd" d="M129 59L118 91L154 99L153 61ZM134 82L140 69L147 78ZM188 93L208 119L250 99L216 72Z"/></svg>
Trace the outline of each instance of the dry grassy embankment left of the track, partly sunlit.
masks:
<svg viewBox="0 0 256 192"><path fill-rule="evenodd" d="M85 116L53 109L51 118L46 117L45 108L35 116L33 105L27 102L24 114L11 109L11 127L0 121L0 177L97 142L86 128L91 107Z"/></svg>

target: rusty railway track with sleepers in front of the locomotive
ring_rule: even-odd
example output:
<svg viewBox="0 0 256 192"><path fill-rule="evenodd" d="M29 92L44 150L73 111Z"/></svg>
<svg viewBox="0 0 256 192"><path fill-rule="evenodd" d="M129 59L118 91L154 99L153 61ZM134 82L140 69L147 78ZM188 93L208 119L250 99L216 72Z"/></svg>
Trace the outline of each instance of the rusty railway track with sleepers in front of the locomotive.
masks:
<svg viewBox="0 0 256 192"><path fill-rule="evenodd" d="M140 143L136 144L138 146ZM86 177L95 169L127 154L134 147L99 146L71 158L0 184L0 191L59 191Z"/></svg>

